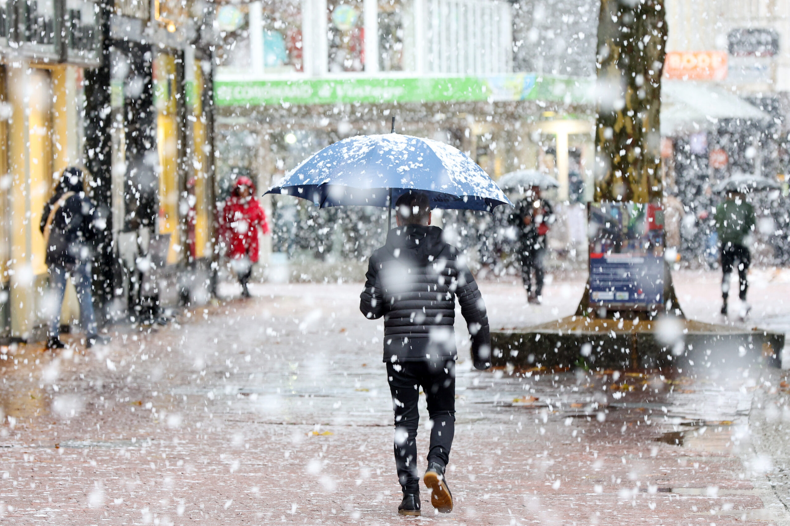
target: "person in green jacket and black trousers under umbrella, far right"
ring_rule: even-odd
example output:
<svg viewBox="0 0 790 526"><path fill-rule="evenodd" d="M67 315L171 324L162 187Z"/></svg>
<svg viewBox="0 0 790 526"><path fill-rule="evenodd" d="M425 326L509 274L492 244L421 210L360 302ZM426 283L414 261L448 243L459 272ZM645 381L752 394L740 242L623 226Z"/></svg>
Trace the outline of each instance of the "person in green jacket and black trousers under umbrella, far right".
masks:
<svg viewBox="0 0 790 526"><path fill-rule="evenodd" d="M738 262L739 298L744 302L741 316L749 311L746 292L749 287L747 272L751 262L749 245L756 220L754 207L747 203L743 193L729 190L726 200L716 207L716 230L721 242L721 297L724 302L721 314L727 315L727 298L730 291L732 267Z"/></svg>

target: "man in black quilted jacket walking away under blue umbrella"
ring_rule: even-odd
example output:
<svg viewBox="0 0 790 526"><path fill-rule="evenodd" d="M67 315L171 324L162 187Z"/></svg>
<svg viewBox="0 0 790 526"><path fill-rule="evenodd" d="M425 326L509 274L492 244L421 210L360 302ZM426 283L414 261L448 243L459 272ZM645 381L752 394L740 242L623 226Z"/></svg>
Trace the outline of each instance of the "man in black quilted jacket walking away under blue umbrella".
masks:
<svg viewBox="0 0 790 526"><path fill-rule="evenodd" d="M445 468L455 426L455 299L461 304L476 369L491 366L485 304L464 257L431 227L424 193L404 193L396 202L397 228L371 256L359 310L384 317L384 362L395 412L395 464L403 488L401 515L419 515L417 426L419 387L431 417L431 445L423 482L431 504L450 513L453 496Z"/></svg>

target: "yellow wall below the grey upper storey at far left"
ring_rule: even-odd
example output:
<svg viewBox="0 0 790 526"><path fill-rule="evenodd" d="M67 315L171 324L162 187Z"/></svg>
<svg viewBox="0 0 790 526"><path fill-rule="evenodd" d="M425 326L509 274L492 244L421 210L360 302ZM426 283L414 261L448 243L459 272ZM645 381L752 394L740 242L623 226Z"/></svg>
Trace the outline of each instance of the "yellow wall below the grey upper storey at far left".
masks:
<svg viewBox="0 0 790 526"><path fill-rule="evenodd" d="M11 108L8 122L0 125L0 153L7 152L0 160L0 172L6 173L7 160L10 179L7 199L0 196L8 218L2 227L9 239L0 242L6 242L9 248L7 256L3 250L0 254L2 265L9 261L13 336L28 337L33 327L51 312L43 304L47 252L40 221L60 172L79 162L78 71L74 66L9 65L5 76L0 75L5 81L5 89L0 92ZM69 323L78 312L76 295L69 286L62 323Z"/></svg>

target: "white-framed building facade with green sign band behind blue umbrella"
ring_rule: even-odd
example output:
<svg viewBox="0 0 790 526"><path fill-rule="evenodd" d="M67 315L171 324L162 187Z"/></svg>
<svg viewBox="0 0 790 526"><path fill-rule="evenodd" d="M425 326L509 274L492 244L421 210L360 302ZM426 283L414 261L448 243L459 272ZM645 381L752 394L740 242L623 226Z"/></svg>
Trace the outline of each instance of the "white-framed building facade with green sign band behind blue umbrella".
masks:
<svg viewBox="0 0 790 526"><path fill-rule="evenodd" d="M218 7L216 22L219 197L240 174L262 189L325 145L387 133L392 117L399 133L456 146L494 178L556 170L563 200L570 179L589 175L591 82L514 72L510 3L251 2ZM290 257L298 235L280 230L307 212L292 199L265 206L280 226L272 250ZM302 244L324 257L318 241Z"/></svg>

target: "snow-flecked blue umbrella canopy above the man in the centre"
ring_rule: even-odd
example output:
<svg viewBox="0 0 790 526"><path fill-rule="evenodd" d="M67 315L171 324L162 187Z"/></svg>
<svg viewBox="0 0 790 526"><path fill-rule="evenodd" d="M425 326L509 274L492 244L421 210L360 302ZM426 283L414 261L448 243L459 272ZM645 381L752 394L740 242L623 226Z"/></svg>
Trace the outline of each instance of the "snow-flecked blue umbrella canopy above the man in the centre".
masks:
<svg viewBox="0 0 790 526"><path fill-rule="evenodd" d="M427 193L433 209L493 211L513 205L474 161L431 139L387 133L360 135L314 154L266 193L329 206L394 208L408 190Z"/></svg>

